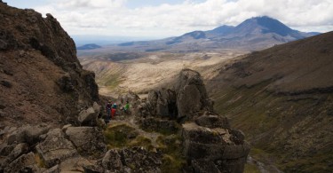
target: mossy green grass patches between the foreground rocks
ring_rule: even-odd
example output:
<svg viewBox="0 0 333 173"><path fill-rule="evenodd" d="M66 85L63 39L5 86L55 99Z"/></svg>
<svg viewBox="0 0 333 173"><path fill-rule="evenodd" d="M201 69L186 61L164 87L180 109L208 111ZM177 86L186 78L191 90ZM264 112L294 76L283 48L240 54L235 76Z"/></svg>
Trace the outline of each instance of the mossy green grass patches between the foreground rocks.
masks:
<svg viewBox="0 0 333 173"><path fill-rule="evenodd" d="M165 131L164 131L165 132ZM173 132L173 134L171 134ZM139 132L127 124L115 124L104 131L108 148L143 146L148 151L160 150L163 153L162 172L180 172L186 164L182 155L182 138L178 131L167 131L156 139L156 144L150 138L139 135Z"/></svg>

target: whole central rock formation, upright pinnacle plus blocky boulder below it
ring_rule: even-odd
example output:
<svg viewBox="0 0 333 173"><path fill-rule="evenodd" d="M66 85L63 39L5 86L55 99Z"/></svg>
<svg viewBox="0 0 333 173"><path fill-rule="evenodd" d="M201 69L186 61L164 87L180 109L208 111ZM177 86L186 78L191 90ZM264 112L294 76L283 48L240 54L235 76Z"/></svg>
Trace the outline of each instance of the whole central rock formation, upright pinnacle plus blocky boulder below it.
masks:
<svg viewBox="0 0 333 173"><path fill-rule="evenodd" d="M214 113L213 101L199 73L182 70L172 90L149 92L140 110L143 118L139 123L145 130L181 129L187 172L242 172L244 169L250 145L244 141L242 131L231 129L226 117ZM172 120L185 123L178 128Z"/></svg>

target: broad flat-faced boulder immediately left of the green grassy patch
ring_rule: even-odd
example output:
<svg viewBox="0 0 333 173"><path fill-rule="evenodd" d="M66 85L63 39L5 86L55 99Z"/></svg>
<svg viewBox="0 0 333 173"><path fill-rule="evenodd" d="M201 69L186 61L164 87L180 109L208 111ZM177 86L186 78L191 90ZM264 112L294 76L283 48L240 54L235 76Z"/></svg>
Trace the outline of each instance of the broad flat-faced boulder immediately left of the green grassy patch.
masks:
<svg viewBox="0 0 333 173"><path fill-rule="evenodd" d="M104 136L94 127L68 127L66 135L73 142L77 151L83 155L94 155L107 152Z"/></svg>

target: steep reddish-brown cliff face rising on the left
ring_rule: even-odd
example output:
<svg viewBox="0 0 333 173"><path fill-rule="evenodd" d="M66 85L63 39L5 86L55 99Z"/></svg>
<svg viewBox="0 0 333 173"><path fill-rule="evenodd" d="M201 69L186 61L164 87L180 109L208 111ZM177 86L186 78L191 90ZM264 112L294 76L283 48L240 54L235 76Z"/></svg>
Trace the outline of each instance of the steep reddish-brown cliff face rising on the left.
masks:
<svg viewBox="0 0 333 173"><path fill-rule="evenodd" d="M0 19L0 125L75 123L99 93L74 41L51 14L0 2Z"/></svg>

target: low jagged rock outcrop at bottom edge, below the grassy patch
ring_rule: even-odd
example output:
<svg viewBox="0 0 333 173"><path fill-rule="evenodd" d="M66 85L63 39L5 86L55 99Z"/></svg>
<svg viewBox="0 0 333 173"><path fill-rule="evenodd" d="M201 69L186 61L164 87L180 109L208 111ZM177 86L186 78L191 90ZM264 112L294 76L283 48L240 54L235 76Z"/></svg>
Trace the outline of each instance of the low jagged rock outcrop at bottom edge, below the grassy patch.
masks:
<svg viewBox="0 0 333 173"><path fill-rule="evenodd" d="M85 172L161 172L162 153L147 152L141 147L112 149Z"/></svg>

